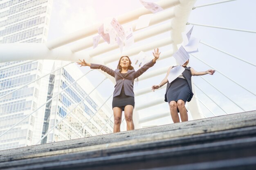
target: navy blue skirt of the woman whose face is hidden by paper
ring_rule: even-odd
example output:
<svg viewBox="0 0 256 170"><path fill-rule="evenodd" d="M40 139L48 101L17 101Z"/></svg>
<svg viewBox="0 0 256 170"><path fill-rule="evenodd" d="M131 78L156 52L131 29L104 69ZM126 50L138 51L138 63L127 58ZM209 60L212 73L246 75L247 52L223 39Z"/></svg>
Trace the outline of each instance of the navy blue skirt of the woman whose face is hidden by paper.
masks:
<svg viewBox="0 0 256 170"><path fill-rule="evenodd" d="M189 84L184 78L176 78L169 87L166 98L168 103L171 101L183 100L185 103L189 99L191 91Z"/></svg>

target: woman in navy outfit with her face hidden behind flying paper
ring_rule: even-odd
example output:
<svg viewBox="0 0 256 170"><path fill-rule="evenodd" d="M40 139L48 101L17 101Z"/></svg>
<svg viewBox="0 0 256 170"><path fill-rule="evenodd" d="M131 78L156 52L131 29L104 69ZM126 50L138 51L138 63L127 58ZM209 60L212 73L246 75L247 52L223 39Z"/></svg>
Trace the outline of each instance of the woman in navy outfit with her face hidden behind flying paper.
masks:
<svg viewBox="0 0 256 170"><path fill-rule="evenodd" d="M164 101L169 103L171 117L174 123L180 122L180 118L182 122L188 121L188 113L185 107L185 103L187 101L189 102L193 97L191 76L202 76L205 74L213 75L215 72L215 70L211 69L204 72L197 72L191 67L186 67L188 63L189 60L187 60L186 63L182 65L182 67L185 68L184 72L182 72L182 74L171 83L168 82L167 77L170 73L170 70L175 66L171 66L168 69L165 78L161 81L159 85L152 86L152 89L154 91L155 89L159 89L164 84L168 83L166 87ZM180 118L178 115L179 112Z"/></svg>

